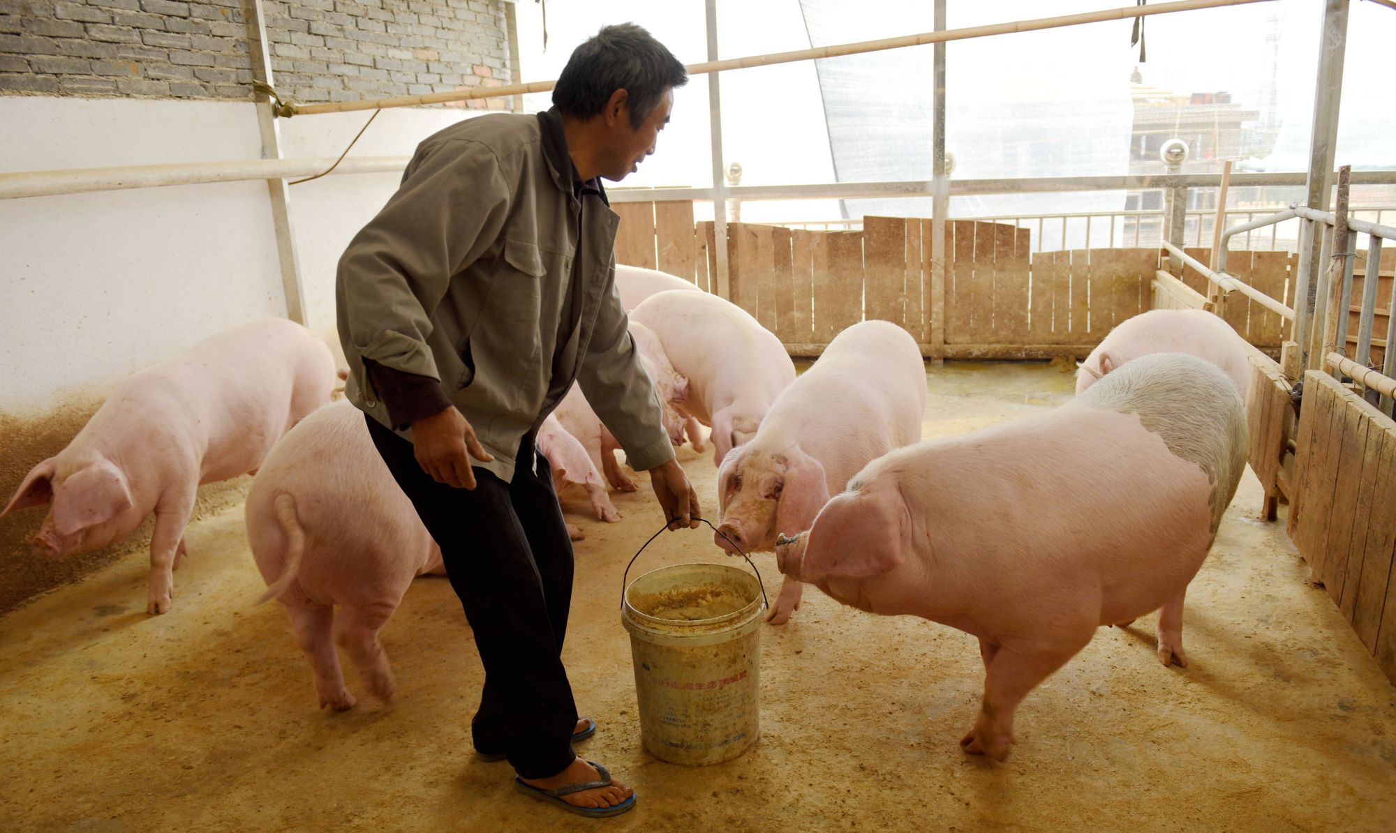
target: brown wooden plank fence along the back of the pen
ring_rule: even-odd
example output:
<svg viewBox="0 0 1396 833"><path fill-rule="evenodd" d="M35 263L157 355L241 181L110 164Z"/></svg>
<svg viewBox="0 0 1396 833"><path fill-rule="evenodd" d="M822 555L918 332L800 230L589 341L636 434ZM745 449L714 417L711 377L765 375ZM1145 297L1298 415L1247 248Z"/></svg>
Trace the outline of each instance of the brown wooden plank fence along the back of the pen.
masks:
<svg viewBox="0 0 1396 833"><path fill-rule="evenodd" d="M694 223L692 202L616 209L617 262L718 289L713 223ZM1187 269L1160 303L1156 248L1033 254L1027 229L979 220L949 220L945 244L945 282L937 286L930 219L867 216L860 232L729 223L727 297L799 356L819 354L852 324L886 320L912 333L927 357L1029 359L1085 356L1132 315L1198 306L1181 286L1206 292L1203 278ZM1206 260L1208 250L1188 251ZM1231 265L1283 300L1291 260L1237 251ZM1227 299L1226 318L1252 345L1279 347L1283 320L1245 296Z"/></svg>

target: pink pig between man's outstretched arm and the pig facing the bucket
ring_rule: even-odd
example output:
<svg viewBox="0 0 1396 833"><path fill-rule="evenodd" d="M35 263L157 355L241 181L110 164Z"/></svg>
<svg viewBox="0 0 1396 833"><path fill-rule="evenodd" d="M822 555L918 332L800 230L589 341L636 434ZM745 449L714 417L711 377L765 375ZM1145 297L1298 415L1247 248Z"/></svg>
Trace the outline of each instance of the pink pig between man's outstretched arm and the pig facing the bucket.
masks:
<svg viewBox="0 0 1396 833"><path fill-rule="evenodd" d="M653 294L631 313L659 335L664 354L685 380L683 412L712 427L713 463L757 435L794 363L771 331L745 310L706 292ZM690 430L690 437L697 428Z"/></svg>

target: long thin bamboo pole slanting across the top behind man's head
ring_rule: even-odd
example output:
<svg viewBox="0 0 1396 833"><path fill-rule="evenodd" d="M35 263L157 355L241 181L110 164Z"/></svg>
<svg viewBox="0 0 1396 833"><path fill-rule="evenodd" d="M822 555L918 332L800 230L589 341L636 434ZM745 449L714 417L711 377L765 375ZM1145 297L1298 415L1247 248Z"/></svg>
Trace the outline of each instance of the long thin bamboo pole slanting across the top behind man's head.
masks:
<svg viewBox="0 0 1396 833"><path fill-rule="evenodd" d="M1272 3L1273 0L1177 0L1174 3L1159 3L1154 6L1128 6L1124 8L1104 8L1081 14L1064 14L1058 17L1043 17L1007 24L990 24L984 27L966 27L963 29L944 29L940 32L921 32L920 35L903 35L899 38L882 38L879 40L860 40L856 43L838 43L832 46L818 46L814 49L797 49L793 52L773 52L768 54L754 54L748 57L734 57L720 61L704 61L688 64L690 75L706 73L723 73L727 70L748 70L751 67L768 67L771 64L787 64L792 61L805 61L825 57L840 57L845 54L863 54L866 52L881 52L884 49L900 49L903 46L924 46L927 43L944 43L948 40L967 40L970 38L987 38L991 35L1011 35L1013 32L1036 32L1041 29L1057 29L1061 27L1075 27L1081 24L1097 24L1106 21L1150 17L1154 14L1170 14L1174 11L1196 11L1202 8L1222 8L1226 6L1244 6L1248 3ZM345 113L350 110L377 110L388 107L413 107L419 105L444 105L447 102L463 102L483 98L504 98L511 95L526 95L530 92L547 92L553 89L556 81L533 81L530 84L505 84L501 87L461 89L451 92L431 92L427 95L399 95L384 99L366 99L359 102L327 102L318 105L300 105L289 102L282 106L281 116L314 116L320 113Z"/></svg>

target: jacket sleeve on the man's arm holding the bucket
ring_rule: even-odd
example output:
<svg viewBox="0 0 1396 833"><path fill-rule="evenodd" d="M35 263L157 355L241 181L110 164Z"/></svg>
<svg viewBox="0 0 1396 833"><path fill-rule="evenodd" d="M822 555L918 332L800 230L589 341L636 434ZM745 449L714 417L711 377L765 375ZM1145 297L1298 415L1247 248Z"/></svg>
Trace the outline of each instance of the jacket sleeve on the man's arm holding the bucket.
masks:
<svg viewBox="0 0 1396 833"><path fill-rule="evenodd" d="M674 446L664 433L659 395L639 363L628 325L613 268L577 381L596 416L625 449L630 467L645 472L674 459Z"/></svg>

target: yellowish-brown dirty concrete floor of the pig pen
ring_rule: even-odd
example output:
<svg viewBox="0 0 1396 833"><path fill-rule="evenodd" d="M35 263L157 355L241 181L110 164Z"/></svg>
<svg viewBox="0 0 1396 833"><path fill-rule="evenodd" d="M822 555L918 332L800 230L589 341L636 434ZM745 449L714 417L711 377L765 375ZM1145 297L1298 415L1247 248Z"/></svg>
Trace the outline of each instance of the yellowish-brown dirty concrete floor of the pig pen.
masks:
<svg viewBox="0 0 1396 833"><path fill-rule="evenodd" d="M928 374L926 435L1069 398L1047 364ZM711 453L681 452L712 505ZM644 480L644 479L642 479ZM564 495L577 544L565 660L596 737L579 746L639 795L611 820L563 813L472 756L482 670L450 585L419 579L383 631L399 695L315 709L310 670L264 589L236 506L188 530L174 608L145 615L142 553L0 620L0 830L1390 830L1396 688L1247 473L1188 592L1188 668L1153 653L1153 617L1103 628L1018 710L998 765L960 751L983 685L977 643L814 589L762 626L761 742L705 769L639 742L621 572L660 526ZM699 532L660 536L637 571L727 561ZM768 589L771 555L755 558Z"/></svg>

